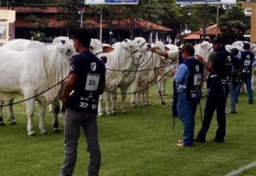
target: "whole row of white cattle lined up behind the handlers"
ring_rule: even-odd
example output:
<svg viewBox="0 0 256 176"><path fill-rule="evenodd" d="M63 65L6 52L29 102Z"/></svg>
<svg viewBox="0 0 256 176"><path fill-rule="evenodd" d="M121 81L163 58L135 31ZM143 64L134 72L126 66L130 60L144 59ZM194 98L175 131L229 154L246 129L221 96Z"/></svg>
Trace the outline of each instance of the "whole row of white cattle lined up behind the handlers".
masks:
<svg viewBox="0 0 256 176"><path fill-rule="evenodd" d="M227 45L226 50L232 48L242 50L243 42L234 42ZM256 54L256 43L251 44L251 51ZM126 94L131 95L131 106L150 105L149 88L157 84L158 94L162 98L165 94L166 78L171 78L171 70L178 66L178 46L165 45L156 41L151 47L158 50L173 51L172 58L162 57L150 50L144 38L134 38L134 41L125 39L116 42L113 46L102 44L98 39L92 39L90 52L95 54L106 64L106 115L116 113L115 101L118 94L122 96L122 113L126 113ZM208 58L213 52L210 42L202 42L194 46L195 55L199 55L210 62ZM70 38L54 38L51 45L25 39L16 39L7 42L0 48L0 126L4 126L2 118L2 105L6 101L7 119L15 124L12 105L14 97L22 95L26 103L28 118L27 132L33 135L32 118L34 116L34 101L38 102L39 129L46 134L44 116L46 105L51 104L54 119L52 129L58 132L58 113L60 111L60 97L63 82L70 69L70 58L75 54L73 41ZM15 73L15 74L14 74ZM207 73L204 74L205 76ZM254 77L253 77L254 78ZM130 87L129 93L127 93ZM117 92L118 88L121 90ZM110 103L111 102L111 103ZM10 106L9 106L10 105ZM110 106L111 105L111 106ZM102 96L98 103L98 116L103 115Z"/></svg>

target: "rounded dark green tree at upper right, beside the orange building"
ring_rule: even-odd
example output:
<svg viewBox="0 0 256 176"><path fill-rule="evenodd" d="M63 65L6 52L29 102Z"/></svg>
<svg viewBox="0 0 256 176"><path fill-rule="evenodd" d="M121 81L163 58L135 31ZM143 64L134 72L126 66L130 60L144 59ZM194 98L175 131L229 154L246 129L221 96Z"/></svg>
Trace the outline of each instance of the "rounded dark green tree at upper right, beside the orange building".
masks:
<svg viewBox="0 0 256 176"><path fill-rule="evenodd" d="M230 38L234 42L243 37L243 34L250 27L250 18L244 14L240 4L233 5L219 18L219 26L222 36Z"/></svg>

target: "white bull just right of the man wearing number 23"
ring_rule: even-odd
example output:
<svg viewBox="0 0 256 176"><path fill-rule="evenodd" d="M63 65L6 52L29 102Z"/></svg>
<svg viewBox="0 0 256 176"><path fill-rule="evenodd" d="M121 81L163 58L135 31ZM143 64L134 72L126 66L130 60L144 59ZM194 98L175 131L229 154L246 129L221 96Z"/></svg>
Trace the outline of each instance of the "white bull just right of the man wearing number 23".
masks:
<svg viewBox="0 0 256 176"><path fill-rule="evenodd" d="M116 92L118 88L122 94L122 113L126 112L126 91L134 81L136 70L138 69L137 65L142 57L134 42L129 39L125 39L123 42L116 42L113 47L114 50L107 54L109 59L106 62L106 91L104 94L107 115L115 113ZM112 101L111 108L110 98ZM102 103L102 97L100 97L99 103ZM98 106L98 116L102 116L102 106L100 104Z"/></svg>

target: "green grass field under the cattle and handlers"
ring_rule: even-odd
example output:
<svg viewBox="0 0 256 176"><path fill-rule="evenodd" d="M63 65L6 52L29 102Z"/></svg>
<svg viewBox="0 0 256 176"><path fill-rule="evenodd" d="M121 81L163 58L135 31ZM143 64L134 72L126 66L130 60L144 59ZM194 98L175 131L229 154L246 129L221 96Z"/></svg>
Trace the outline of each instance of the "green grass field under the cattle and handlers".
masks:
<svg viewBox="0 0 256 176"><path fill-rule="evenodd" d="M175 130L172 130L171 85L172 81L168 80L165 106L161 105L154 87L150 90L151 106L130 108L128 96L127 114L118 110L118 114L98 118L98 141L102 151L100 175L225 175L256 160L256 103L249 105L246 94L239 97L238 114L226 115L224 143L211 141L217 130L214 115L205 143L178 147L175 144L182 139L182 123L176 119ZM201 102L204 110L206 99L202 98ZM63 158L63 134L51 131L52 115L47 112L48 134L41 135L38 114L35 114L36 135L30 137L26 134L24 103L14 106L14 112L18 124L10 126L5 113L6 126L0 126L0 175L58 175ZM196 134L201 127L199 108L195 120ZM81 135L74 176L86 174L88 155ZM238 175L256 175L256 167Z"/></svg>

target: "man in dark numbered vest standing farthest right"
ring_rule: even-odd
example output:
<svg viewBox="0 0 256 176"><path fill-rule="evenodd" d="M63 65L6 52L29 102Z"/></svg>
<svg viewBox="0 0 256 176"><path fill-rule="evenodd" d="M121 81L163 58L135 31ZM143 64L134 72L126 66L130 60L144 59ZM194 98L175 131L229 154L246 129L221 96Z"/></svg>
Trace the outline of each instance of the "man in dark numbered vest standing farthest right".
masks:
<svg viewBox="0 0 256 176"><path fill-rule="evenodd" d="M246 90L248 93L248 103L252 104L254 102L253 90L251 88L251 71L252 64L254 62L254 54L250 51L250 43L245 42L243 44L243 51L241 52L241 60L243 64L242 69L242 80L246 83ZM242 84L239 84L235 91L235 98L238 101L238 94L241 90Z"/></svg>

